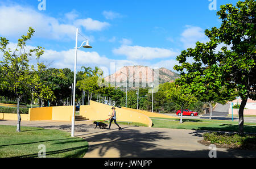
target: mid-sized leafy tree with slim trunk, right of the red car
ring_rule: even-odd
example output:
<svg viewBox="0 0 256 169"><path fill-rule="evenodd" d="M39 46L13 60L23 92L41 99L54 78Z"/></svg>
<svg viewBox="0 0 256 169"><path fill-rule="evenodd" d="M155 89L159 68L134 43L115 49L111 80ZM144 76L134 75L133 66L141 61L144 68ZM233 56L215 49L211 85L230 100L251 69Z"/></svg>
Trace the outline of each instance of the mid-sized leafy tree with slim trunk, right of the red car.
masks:
<svg viewBox="0 0 256 169"><path fill-rule="evenodd" d="M188 53L190 56L194 55L197 57L204 57L206 53L208 55L214 54L211 53L212 49L208 47L212 48L213 46L197 43L195 49L188 49L188 52L182 52L180 56L177 56L177 60L180 61L181 65L175 65L174 69L182 71L181 77L175 81L176 84L183 85L201 102L209 103L209 119L212 119L212 104L226 104L227 101L232 101L236 98L237 92L235 91L236 88L229 88L229 90L227 90L224 84L221 83L220 78L222 77L214 75L217 72L216 66L210 64L200 66L203 65L201 60L197 60L193 64L183 62ZM185 73L184 70L187 72Z"/></svg>

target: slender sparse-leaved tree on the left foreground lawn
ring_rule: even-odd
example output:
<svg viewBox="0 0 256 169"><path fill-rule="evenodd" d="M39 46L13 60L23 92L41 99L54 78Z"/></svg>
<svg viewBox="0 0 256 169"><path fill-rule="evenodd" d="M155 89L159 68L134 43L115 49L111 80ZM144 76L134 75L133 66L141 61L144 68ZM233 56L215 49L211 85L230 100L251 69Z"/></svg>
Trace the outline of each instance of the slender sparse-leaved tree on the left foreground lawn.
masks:
<svg viewBox="0 0 256 169"><path fill-rule="evenodd" d="M19 104L20 100L24 95L30 92L31 87L38 83L39 78L36 75L36 70L33 65L29 64L30 58L35 54L36 58L39 59L43 54L42 47L35 49L30 49L26 51L26 42L31 39L34 34L34 29L29 28L27 35L23 35L21 39L18 40L18 45L14 52L11 49L7 49L9 40L5 37L1 37L0 50L3 52L1 64L1 84L5 86L9 91L15 93L17 100L17 129L20 132L20 112Z"/></svg>

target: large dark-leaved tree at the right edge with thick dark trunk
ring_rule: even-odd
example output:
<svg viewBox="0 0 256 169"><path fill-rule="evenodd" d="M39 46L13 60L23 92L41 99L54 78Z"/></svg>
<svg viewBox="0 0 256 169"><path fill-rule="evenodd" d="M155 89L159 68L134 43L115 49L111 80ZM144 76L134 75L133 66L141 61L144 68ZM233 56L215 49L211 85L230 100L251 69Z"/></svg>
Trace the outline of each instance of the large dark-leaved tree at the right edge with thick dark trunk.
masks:
<svg viewBox="0 0 256 169"><path fill-rule="evenodd" d="M221 27L205 30L210 41L205 44L197 42L195 49L184 50L177 58L182 66L197 70L202 68L204 75L216 79L207 85L224 87L230 94L236 88L242 98L238 122L240 134L243 134L243 109L247 99L256 99L255 9L254 0L239 1L236 6L222 5L217 12L222 20ZM217 50L221 46L221 50ZM195 63L189 65L187 57L193 57ZM181 70L178 67L175 69Z"/></svg>

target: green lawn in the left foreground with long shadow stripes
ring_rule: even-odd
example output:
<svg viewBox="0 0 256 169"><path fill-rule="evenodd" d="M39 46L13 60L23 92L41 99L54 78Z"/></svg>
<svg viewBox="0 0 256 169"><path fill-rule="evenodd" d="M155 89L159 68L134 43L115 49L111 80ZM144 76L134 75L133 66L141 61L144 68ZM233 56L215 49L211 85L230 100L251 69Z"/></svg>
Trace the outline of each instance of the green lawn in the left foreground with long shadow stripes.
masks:
<svg viewBox="0 0 256 169"><path fill-rule="evenodd" d="M0 158L38 157L39 145L46 146L46 157L84 157L88 142L79 137L70 137L70 133L21 126L22 132L16 132L16 126L0 125Z"/></svg>

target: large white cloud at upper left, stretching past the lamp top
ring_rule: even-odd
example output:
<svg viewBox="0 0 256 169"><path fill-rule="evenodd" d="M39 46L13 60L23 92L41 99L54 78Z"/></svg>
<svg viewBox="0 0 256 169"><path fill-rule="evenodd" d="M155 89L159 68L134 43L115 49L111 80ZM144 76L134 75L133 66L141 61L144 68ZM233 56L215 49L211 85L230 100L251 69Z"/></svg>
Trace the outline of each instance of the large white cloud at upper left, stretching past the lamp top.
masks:
<svg viewBox="0 0 256 169"><path fill-rule="evenodd" d="M56 19L40 13L29 7L19 5L0 6L0 35L16 37L27 32L28 27L35 29L36 37L47 39L75 39L76 27L83 27L90 31L101 31L110 26L109 23L100 22L91 18L77 19L72 23L61 22L64 19ZM75 19L78 14L75 11L65 14L65 18Z"/></svg>

